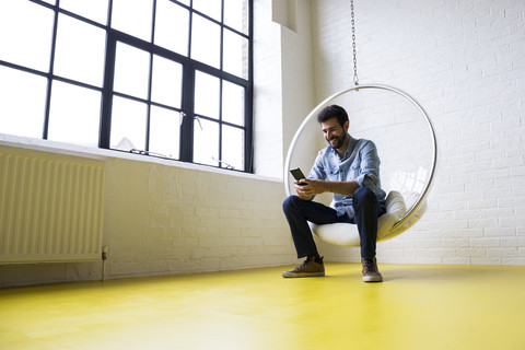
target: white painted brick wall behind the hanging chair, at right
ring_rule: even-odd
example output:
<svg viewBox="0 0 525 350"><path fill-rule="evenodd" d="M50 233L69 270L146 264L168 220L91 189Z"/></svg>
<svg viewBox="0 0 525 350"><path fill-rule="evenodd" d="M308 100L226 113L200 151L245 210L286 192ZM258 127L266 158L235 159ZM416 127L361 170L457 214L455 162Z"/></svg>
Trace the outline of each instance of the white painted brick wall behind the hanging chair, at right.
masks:
<svg viewBox="0 0 525 350"><path fill-rule="evenodd" d="M353 85L350 7L312 3L322 100ZM439 141L428 213L380 261L525 264L525 2L355 1L355 21L360 82L409 92Z"/></svg>

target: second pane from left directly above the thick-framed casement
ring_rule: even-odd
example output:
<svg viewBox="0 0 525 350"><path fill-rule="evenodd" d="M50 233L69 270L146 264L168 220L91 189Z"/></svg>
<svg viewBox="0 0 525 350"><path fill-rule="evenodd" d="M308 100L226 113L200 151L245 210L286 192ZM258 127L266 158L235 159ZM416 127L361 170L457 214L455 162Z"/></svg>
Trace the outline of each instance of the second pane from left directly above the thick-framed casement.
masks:
<svg viewBox="0 0 525 350"><path fill-rule="evenodd" d="M188 56L189 11L170 0L158 0L155 44Z"/></svg>

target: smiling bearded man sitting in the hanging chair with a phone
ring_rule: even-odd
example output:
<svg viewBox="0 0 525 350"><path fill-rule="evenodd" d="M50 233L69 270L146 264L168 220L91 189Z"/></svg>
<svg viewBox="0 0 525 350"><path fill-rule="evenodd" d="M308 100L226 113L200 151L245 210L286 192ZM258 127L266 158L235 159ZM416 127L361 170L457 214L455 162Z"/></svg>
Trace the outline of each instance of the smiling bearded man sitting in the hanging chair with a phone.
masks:
<svg viewBox="0 0 525 350"><path fill-rule="evenodd" d="M375 245L377 218L385 213L386 194L381 188L381 162L375 144L348 133L348 114L340 106L325 107L317 115L317 121L329 145L318 153L308 178L294 182L298 195L288 197L282 205L298 258L306 257L306 260L282 276L325 276L323 257L307 221L316 224L348 222L358 225L363 281L382 282ZM323 192L334 194L335 209L312 200Z"/></svg>

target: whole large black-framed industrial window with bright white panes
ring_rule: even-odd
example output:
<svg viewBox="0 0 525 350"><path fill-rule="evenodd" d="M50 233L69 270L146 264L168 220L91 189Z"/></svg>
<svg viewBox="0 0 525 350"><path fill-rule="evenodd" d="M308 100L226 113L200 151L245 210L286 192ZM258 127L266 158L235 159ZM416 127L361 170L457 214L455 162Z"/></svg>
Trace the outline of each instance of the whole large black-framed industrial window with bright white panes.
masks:
<svg viewBox="0 0 525 350"><path fill-rule="evenodd" d="M253 0L0 2L0 132L252 171Z"/></svg>

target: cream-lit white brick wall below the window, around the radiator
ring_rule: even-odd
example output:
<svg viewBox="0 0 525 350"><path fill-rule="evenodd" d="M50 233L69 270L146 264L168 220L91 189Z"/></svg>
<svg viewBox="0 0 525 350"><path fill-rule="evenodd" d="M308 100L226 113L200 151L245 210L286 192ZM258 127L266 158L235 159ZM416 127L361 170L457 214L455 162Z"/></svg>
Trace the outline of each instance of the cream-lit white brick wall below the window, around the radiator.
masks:
<svg viewBox="0 0 525 350"><path fill-rule="evenodd" d="M106 159L106 278L294 260L281 182L127 158ZM0 266L0 287L100 279L101 271L102 261Z"/></svg>

